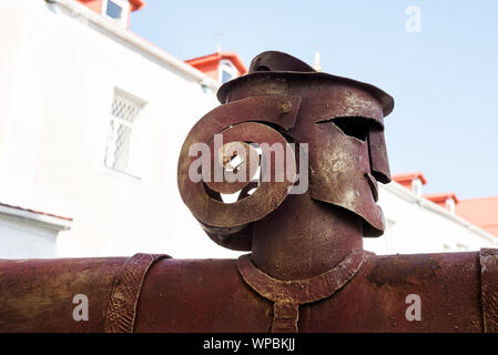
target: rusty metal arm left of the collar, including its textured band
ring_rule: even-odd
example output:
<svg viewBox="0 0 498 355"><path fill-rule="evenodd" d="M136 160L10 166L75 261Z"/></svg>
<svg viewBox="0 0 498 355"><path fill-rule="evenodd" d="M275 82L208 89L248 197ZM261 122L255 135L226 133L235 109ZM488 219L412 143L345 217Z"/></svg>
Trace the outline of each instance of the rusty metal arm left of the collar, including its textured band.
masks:
<svg viewBox="0 0 498 355"><path fill-rule="evenodd" d="M81 295L89 316L77 321ZM232 325L265 332L270 315L262 306L271 308L243 283L236 260L136 254L0 261L0 332L203 332Z"/></svg>

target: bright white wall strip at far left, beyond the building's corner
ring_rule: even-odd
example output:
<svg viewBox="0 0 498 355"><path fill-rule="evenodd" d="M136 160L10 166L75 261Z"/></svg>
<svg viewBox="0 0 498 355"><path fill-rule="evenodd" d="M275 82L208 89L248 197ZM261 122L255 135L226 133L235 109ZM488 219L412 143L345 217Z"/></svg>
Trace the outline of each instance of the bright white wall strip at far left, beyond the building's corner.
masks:
<svg viewBox="0 0 498 355"><path fill-rule="evenodd" d="M30 203L55 22L44 1L0 1L0 201Z"/></svg>

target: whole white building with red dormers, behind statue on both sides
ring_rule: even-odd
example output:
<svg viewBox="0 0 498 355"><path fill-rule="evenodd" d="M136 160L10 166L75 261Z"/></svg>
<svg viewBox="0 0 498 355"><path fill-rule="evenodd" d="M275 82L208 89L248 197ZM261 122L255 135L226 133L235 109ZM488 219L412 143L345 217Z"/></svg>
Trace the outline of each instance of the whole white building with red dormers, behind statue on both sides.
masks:
<svg viewBox="0 0 498 355"><path fill-rule="evenodd" d="M184 206L176 164L190 129L218 104L220 80L241 63L220 55L214 71L197 67L204 73L131 33L142 0L80 1L0 1L0 202L72 219L49 221L50 237L27 229L20 237L13 230L30 220L9 217L17 224L0 224L0 258L238 255L211 242ZM388 231L367 248L495 243L403 189L382 189Z"/></svg>

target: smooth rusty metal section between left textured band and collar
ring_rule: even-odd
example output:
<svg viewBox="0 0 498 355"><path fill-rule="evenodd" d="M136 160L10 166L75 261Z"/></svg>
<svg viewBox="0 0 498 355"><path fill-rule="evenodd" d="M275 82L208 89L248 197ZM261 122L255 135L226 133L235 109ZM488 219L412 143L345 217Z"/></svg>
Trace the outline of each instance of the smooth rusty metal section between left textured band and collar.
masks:
<svg viewBox="0 0 498 355"><path fill-rule="evenodd" d="M148 273L136 332L267 332L272 303L242 280L237 260L161 260Z"/></svg>

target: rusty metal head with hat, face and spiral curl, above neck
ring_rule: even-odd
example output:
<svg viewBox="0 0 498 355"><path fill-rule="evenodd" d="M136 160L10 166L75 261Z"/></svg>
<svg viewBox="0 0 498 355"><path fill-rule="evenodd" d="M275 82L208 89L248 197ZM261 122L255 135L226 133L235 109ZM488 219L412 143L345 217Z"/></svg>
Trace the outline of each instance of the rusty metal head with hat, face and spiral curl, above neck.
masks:
<svg viewBox="0 0 498 355"><path fill-rule="evenodd" d="M177 174L183 201L211 239L232 250L251 250L254 224L278 213L291 194L354 215L363 236L383 234L377 181L390 181L383 131L384 116L394 106L392 97L363 82L316 72L286 53L268 51L254 58L248 74L222 85L217 98L222 105L189 133ZM216 134L223 138L217 149ZM193 150L200 142L209 149ZM244 156L234 169L230 163L237 155L232 149L236 142ZM285 156L275 150L257 154L264 143L281 144ZM199 153L206 150L206 164L201 164ZM233 173L242 165L260 165L256 180L246 170L244 181L233 176L210 180L216 169ZM193 171L202 179L192 179ZM265 171L273 173L272 181L262 179ZM238 200L224 203L221 194L235 191L241 191Z"/></svg>

